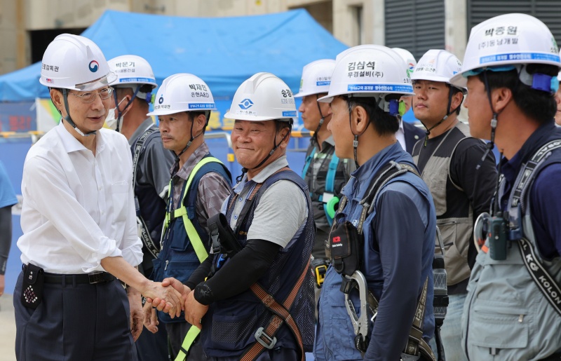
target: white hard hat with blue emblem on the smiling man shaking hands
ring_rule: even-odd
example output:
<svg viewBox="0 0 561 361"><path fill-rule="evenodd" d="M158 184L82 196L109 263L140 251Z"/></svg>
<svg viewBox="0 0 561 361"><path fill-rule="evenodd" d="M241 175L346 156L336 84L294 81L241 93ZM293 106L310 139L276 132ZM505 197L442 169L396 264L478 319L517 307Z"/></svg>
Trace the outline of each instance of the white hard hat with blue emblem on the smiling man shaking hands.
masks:
<svg viewBox="0 0 561 361"><path fill-rule="evenodd" d="M238 121L292 121L298 114L286 83L271 73L257 73L241 83L224 116Z"/></svg>

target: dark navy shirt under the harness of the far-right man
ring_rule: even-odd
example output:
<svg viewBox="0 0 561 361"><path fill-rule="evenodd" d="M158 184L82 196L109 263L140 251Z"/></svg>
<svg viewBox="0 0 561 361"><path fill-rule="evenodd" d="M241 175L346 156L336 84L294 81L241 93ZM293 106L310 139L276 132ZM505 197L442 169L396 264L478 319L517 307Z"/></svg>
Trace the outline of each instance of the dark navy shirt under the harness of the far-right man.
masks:
<svg viewBox="0 0 561 361"><path fill-rule="evenodd" d="M553 121L541 125L530 135L522 148L510 159L501 160L501 173L506 184L501 198L501 209L506 210L512 186L520 168L550 140L561 139L561 128ZM538 250L545 259L553 259L561 254L561 163L553 163L539 170L529 193L529 207L532 210L532 226Z"/></svg>

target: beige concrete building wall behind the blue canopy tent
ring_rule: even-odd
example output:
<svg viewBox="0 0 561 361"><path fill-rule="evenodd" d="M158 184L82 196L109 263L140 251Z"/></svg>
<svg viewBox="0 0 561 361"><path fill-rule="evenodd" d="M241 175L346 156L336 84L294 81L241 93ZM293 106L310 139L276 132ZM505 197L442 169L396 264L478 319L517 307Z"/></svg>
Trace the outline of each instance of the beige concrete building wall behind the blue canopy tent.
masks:
<svg viewBox="0 0 561 361"><path fill-rule="evenodd" d="M447 50L466 47L466 0L445 0ZM29 32L86 28L106 9L192 17L260 15L306 8L349 46L384 45L384 0L0 0L0 74L31 62Z"/></svg>

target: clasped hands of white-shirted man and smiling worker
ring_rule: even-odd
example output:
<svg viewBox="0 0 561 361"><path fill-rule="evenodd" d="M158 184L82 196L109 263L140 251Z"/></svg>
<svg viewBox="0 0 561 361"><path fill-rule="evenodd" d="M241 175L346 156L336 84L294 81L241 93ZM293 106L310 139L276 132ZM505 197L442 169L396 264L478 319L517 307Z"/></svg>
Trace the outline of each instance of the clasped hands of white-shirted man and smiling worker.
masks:
<svg viewBox="0 0 561 361"><path fill-rule="evenodd" d="M179 317L183 311L185 320L201 329L201 321L208 306L198 303L189 287L175 278L165 278L161 283L154 282L154 285L158 288L158 296L147 297L143 308L144 327L152 333L158 332L158 310L168 313L170 318Z"/></svg>

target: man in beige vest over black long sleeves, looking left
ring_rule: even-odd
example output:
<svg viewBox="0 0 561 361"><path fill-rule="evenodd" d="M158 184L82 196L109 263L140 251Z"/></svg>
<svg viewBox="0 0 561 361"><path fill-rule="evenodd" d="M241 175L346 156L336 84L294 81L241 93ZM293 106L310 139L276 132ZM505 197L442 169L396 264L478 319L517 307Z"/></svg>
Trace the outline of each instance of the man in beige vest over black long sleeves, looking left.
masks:
<svg viewBox="0 0 561 361"><path fill-rule="evenodd" d="M460 70L461 62L452 53L431 49L412 75L413 111L427 129L425 139L415 144L413 160L431 189L445 248L449 304L440 334L447 361L465 360L459 325L477 254L473 224L489 210L496 184L493 154L485 153L485 143L470 137L468 125L457 118L464 88L450 85L450 78ZM442 250L437 247L435 252Z"/></svg>

